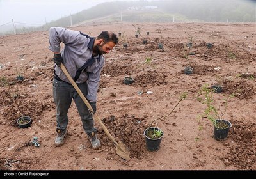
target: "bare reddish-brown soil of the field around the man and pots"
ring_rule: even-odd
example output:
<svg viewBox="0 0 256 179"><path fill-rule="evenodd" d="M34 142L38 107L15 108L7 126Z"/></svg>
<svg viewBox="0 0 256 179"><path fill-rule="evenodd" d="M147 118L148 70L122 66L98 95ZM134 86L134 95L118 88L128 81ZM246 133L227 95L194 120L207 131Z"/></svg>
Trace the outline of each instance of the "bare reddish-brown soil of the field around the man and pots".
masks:
<svg viewBox="0 0 256 179"><path fill-rule="evenodd" d="M105 55L97 115L116 141L129 147L129 161L116 155L115 146L97 122L102 147L92 149L73 102L68 112L67 141L54 147L54 63L48 31L1 36L1 170L256 169L256 25L143 25L138 38L129 23L70 27L91 36L105 30L127 35L127 48L120 38ZM191 49L186 45L189 36L193 36ZM144 39L147 44L143 44ZM159 49L159 42L163 49ZM207 48L210 42L211 49ZM137 68L147 57L152 62ZM193 67L193 74L184 74L188 65ZM24 81L17 81L19 72ZM129 75L134 82L124 84L124 77ZM205 104L196 98L204 84L216 83L217 76L223 82L223 92L214 93L214 104L222 104L225 97L234 94L225 111L225 119L232 123L225 141L214 139L213 125L202 115ZM187 99L170 114L184 91ZM31 127L17 126L21 113L32 118ZM159 150L149 152L143 132L156 118L161 118L157 126L164 136ZM31 142L33 137L38 137L39 147Z"/></svg>

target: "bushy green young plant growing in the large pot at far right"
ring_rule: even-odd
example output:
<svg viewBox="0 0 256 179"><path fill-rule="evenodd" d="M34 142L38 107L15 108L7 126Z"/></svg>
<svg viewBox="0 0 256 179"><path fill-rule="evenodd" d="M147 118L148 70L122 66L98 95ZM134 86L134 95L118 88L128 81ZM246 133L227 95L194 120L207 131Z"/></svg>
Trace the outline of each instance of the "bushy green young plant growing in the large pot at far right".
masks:
<svg viewBox="0 0 256 179"><path fill-rule="evenodd" d="M214 89L211 89L207 85L204 85L199 91L198 101L206 105L204 114L206 118L209 119L216 128L228 128L228 125L225 122L226 120L224 119L224 115L227 110L227 100L231 97L234 97L234 94L228 95L227 98L224 98L223 103L218 105L218 107L214 105L213 94ZM224 106L224 109L221 110L221 106ZM220 120L220 122L217 123L216 120Z"/></svg>

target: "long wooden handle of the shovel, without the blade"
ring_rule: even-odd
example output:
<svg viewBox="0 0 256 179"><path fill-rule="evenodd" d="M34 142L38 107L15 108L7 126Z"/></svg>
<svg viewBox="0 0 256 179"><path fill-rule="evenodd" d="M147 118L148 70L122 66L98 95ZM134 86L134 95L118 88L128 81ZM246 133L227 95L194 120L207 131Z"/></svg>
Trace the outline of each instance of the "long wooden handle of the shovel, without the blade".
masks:
<svg viewBox="0 0 256 179"><path fill-rule="evenodd" d="M64 74L67 76L68 80L71 82L72 86L76 89L77 93L79 94L79 96L82 98L83 102L86 104L86 106L93 111L92 106L90 105L90 103L88 102L88 100L84 97L82 91L79 89L79 87L77 86L76 82L72 79L72 77L70 76L70 74L68 73L67 68L63 65L63 63L60 64L60 68L61 70L64 72ZM109 137L109 139L115 144L115 146L118 146L118 143L116 142L116 140L114 139L113 136L111 136L111 134L109 133L108 129L105 127L104 123L102 123L102 121L100 120L100 118L97 116L97 114L93 115L93 118L95 118L98 123L100 124L100 126L103 128L104 132L107 134L107 136Z"/></svg>

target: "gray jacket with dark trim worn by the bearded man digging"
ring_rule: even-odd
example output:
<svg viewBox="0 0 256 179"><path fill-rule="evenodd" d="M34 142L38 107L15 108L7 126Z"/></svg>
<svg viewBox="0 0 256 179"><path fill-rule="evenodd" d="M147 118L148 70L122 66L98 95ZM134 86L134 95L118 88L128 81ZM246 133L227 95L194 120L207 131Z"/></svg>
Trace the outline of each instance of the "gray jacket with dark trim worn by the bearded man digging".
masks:
<svg viewBox="0 0 256 179"><path fill-rule="evenodd" d="M49 49L52 52L60 52L60 43L65 45L61 51L63 58L63 65L67 68L69 74L74 79L77 69L84 65L84 63L92 57L93 43L95 38L81 35L79 31L72 31L62 27L51 27L49 29ZM91 101L96 101L97 90L100 81L100 72L104 66L105 60L103 56L95 57L95 62L89 65L81 72L76 83L87 82L88 95L86 98ZM66 75L62 72L60 66L55 65L55 73L65 82L71 83ZM89 75L88 75L89 72Z"/></svg>

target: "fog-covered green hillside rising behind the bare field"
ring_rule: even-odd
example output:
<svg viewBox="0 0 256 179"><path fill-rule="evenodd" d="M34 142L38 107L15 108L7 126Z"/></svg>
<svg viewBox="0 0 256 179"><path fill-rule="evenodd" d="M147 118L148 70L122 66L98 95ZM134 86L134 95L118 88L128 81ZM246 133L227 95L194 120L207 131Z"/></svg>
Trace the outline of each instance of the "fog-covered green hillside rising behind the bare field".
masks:
<svg viewBox="0 0 256 179"><path fill-rule="evenodd" d="M95 13L97 12L97 13ZM53 26L70 27L97 22L256 22L252 1L124 1L105 2L88 10L61 17L43 26L19 24L17 33L47 30ZM13 34L13 25L1 26L1 34Z"/></svg>

